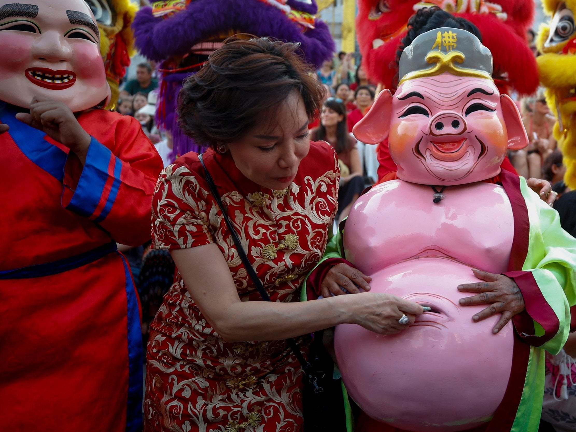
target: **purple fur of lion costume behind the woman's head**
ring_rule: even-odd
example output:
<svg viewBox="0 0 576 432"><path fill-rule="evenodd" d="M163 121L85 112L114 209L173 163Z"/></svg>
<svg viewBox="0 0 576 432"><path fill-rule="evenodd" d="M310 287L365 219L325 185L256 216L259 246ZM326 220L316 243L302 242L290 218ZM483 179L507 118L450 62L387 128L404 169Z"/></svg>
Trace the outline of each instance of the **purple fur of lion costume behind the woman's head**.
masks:
<svg viewBox="0 0 576 432"><path fill-rule="evenodd" d="M317 12L314 0L310 3L288 0L288 4L302 12ZM140 52L156 61L184 55L200 41L229 29L299 42L305 60L316 67L331 58L335 51L325 22L317 20L316 28L304 29L290 21L281 10L260 0L196 0L167 19L155 18L150 7L143 7L137 13L132 28ZM164 108L156 113L156 119L160 127L172 132L173 156L204 150L177 126L177 98L182 82L188 75L165 74L162 77L160 101Z"/></svg>

